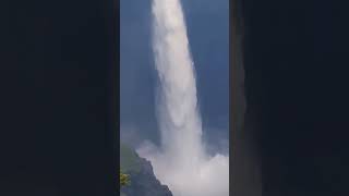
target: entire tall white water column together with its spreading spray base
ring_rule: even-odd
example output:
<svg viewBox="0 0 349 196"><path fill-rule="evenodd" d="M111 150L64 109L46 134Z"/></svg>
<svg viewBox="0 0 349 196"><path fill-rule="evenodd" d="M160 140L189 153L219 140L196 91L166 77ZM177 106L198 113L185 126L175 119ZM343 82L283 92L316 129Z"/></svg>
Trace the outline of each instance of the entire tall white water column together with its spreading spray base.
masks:
<svg viewBox="0 0 349 196"><path fill-rule="evenodd" d="M229 157L208 154L196 96L195 69L179 0L153 0L153 50L159 83L156 113L160 146L137 152L174 196L228 196Z"/></svg>

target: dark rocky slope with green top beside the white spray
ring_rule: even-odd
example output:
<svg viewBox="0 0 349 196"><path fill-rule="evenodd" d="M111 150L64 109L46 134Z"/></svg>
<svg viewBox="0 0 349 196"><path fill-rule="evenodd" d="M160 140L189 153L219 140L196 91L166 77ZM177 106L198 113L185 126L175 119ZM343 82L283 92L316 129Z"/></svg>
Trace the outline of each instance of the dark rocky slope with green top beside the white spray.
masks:
<svg viewBox="0 0 349 196"><path fill-rule="evenodd" d="M120 147L120 160L122 172L129 174L131 181L121 188L121 196L172 196L168 186L156 179L151 161L123 145Z"/></svg>

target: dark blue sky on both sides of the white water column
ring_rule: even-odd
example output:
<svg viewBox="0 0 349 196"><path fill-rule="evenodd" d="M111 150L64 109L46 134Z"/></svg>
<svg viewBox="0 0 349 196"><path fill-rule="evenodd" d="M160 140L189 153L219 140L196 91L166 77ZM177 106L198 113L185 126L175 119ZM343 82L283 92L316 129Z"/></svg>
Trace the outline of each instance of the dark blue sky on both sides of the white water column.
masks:
<svg viewBox="0 0 349 196"><path fill-rule="evenodd" d="M120 5L121 132L158 143L151 0L120 0ZM229 134L229 0L182 0L182 5L204 136L215 144Z"/></svg>

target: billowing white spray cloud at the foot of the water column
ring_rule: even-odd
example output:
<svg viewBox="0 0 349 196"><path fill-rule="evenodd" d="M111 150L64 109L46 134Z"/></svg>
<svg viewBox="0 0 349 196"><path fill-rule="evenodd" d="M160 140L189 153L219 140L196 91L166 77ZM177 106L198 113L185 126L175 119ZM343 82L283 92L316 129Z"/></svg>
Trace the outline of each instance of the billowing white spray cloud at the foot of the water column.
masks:
<svg viewBox="0 0 349 196"><path fill-rule="evenodd" d="M168 157L151 142L137 149L141 157L151 160L155 175L169 186L173 196L228 196L229 157L207 156L191 167L180 167L176 157ZM191 159L190 157L188 159Z"/></svg>

